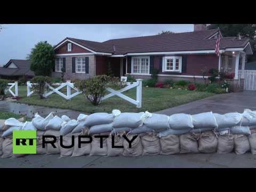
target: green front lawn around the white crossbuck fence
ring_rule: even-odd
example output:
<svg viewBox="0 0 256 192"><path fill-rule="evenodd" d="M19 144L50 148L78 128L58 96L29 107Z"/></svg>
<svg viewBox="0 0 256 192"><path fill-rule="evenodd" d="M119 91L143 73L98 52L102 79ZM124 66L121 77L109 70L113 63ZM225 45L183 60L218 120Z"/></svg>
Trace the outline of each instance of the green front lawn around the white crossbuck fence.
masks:
<svg viewBox="0 0 256 192"><path fill-rule="evenodd" d="M124 92L124 94L136 99L135 88ZM110 113L113 109L119 109L122 112L139 112L146 110L155 112L210 97L212 95L214 94L207 92L142 87L142 108L138 109L132 103L116 96L104 100L99 106L93 106L83 94L77 95L70 101L67 101L58 94L52 94L47 99L39 99L38 95L31 95L31 97L28 98L27 86L19 86L19 96L22 98L17 102L62 109L73 109L88 114L105 111Z"/></svg>

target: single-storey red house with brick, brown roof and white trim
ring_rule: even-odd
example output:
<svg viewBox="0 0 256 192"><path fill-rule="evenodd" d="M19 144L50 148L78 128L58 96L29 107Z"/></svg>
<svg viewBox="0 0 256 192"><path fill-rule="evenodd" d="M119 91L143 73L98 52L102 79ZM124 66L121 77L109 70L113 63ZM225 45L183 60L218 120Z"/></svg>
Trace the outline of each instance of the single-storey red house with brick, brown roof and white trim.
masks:
<svg viewBox="0 0 256 192"><path fill-rule="evenodd" d="M219 57L215 54L218 37ZM243 79L243 73L241 78L238 75L239 67L243 71L246 55L252 54L249 39L222 37L219 29L207 30L204 24L194 25L193 32L110 39L102 43L67 37L54 50L54 77L60 76L62 67L65 79L106 74L111 67L116 77L130 74L145 79L156 68L159 81L193 81L195 77L198 82L203 81L202 69L215 68L234 74L231 84L235 91L241 89Z"/></svg>

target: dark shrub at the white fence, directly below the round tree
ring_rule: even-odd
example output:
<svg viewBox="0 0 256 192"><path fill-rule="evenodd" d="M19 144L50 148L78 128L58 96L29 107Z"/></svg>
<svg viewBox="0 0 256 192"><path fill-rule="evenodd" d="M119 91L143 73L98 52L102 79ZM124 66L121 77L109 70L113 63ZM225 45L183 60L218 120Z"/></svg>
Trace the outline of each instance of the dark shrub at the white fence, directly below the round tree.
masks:
<svg viewBox="0 0 256 192"><path fill-rule="evenodd" d="M46 83L51 83L51 77L35 76L31 79L31 83L36 83L32 85L32 90L39 95L40 99L43 99L43 94L46 91Z"/></svg>

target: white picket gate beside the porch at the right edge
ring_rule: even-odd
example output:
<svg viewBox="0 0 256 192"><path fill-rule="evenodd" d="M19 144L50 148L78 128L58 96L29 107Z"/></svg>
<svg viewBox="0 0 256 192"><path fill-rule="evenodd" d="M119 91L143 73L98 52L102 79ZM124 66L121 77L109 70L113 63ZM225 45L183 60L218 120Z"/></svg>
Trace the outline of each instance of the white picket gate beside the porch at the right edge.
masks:
<svg viewBox="0 0 256 192"><path fill-rule="evenodd" d="M239 71L239 78L242 71ZM244 90L256 91L256 70L244 70Z"/></svg>

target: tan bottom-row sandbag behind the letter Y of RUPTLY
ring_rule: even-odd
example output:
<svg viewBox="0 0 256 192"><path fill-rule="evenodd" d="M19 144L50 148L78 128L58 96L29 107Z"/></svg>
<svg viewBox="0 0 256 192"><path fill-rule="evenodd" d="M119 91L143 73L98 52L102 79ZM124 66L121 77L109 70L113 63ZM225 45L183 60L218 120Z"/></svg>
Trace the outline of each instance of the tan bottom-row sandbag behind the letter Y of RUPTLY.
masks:
<svg viewBox="0 0 256 192"><path fill-rule="evenodd" d="M129 140L132 140L133 136L135 136L135 135L129 134L129 135L127 135L127 138ZM131 148L129 148L129 142L126 141L125 139L124 139L123 145L124 145L123 156L137 157L137 156L142 155L142 144L141 144L141 139L139 136L137 138L135 138L135 140L133 140Z"/></svg>

